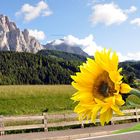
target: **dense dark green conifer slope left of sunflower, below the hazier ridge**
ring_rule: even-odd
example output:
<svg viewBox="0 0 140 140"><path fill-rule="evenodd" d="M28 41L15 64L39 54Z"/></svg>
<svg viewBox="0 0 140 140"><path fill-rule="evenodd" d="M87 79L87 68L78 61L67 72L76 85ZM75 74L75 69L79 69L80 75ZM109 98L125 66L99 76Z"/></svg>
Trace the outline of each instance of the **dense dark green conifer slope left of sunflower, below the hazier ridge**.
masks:
<svg viewBox="0 0 140 140"><path fill-rule="evenodd" d="M80 59L0 52L0 84L70 84L70 75L78 71L81 63Z"/></svg>

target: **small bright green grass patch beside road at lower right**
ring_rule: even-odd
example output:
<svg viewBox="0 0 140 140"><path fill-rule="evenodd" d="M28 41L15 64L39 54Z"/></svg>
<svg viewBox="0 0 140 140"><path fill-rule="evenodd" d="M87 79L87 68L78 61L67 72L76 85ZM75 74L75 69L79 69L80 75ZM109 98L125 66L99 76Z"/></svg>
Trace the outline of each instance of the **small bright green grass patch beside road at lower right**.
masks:
<svg viewBox="0 0 140 140"><path fill-rule="evenodd" d="M114 133L118 134L118 133L130 132L130 131L140 131L140 123L138 123L135 126L130 127L130 128L126 128L126 129L121 129L121 130L115 131Z"/></svg>

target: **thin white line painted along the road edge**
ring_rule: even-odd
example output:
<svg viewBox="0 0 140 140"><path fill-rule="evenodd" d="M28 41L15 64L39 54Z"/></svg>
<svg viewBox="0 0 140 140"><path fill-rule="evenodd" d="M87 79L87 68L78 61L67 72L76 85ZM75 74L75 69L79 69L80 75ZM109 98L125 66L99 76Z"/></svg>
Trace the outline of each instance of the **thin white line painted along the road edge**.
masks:
<svg viewBox="0 0 140 140"><path fill-rule="evenodd" d="M140 131L131 131L131 132L125 132L125 133L119 133L119 134L110 134L110 135L103 135L103 136L81 138L81 139L76 139L76 140L90 140L90 139L97 139L97 138L111 137L111 136L118 136L118 135L126 135L126 134L138 133L138 132L140 133Z"/></svg>

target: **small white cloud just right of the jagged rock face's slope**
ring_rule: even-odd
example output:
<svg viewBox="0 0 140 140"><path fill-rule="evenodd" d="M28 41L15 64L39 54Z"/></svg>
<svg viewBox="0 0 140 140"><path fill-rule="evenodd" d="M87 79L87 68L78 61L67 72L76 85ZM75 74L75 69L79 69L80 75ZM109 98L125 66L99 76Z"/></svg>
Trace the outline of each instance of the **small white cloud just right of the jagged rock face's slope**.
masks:
<svg viewBox="0 0 140 140"><path fill-rule="evenodd" d="M46 38L46 35L43 31L39 31L37 29L31 30L29 29L29 35L35 37L37 40L43 41Z"/></svg>

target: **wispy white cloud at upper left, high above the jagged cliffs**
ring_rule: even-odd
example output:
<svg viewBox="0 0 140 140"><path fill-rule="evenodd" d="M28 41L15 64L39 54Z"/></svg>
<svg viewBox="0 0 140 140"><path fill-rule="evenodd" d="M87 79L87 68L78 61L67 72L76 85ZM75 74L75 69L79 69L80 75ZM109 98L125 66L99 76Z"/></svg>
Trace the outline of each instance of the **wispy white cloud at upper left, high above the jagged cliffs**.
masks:
<svg viewBox="0 0 140 140"><path fill-rule="evenodd" d="M16 12L16 16L23 15L24 20L29 22L39 16L50 16L52 11L49 9L48 4L45 1L40 1L36 6L30 4L24 4L21 9Z"/></svg>

